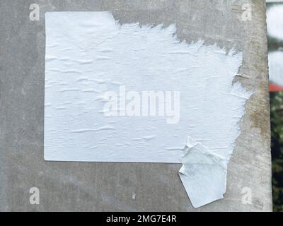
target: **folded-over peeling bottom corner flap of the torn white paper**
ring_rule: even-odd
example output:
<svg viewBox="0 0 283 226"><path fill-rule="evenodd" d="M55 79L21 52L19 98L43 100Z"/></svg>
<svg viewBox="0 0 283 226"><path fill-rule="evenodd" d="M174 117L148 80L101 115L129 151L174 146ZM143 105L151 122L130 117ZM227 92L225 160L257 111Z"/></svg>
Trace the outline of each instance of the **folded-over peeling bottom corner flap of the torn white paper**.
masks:
<svg viewBox="0 0 283 226"><path fill-rule="evenodd" d="M185 152L179 175L192 206L199 208L224 198L229 160L190 137L187 137Z"/></svg>

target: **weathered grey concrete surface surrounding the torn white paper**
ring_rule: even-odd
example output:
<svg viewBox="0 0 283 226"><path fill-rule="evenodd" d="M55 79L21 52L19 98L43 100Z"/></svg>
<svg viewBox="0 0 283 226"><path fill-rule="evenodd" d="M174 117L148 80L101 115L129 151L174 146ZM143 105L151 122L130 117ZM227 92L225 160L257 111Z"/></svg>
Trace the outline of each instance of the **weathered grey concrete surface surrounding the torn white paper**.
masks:
<svg viewBox="0 0 283 226"><path fill-rule="evenodd" d="M40 21L28 17L33 3ZM253 9L250 21L241 20L246 3ZM250 78L238 79L255 94L224 199L192 208L180 165L43 160L45 11L112 11L120 23L175 23L180 40L243 51L239 72ZM0 30L0 210L272 210L265 1L0 0ZM40 205L29 203L33 186L40 189ZM245 205L249 191L252 203Z"/></svg>

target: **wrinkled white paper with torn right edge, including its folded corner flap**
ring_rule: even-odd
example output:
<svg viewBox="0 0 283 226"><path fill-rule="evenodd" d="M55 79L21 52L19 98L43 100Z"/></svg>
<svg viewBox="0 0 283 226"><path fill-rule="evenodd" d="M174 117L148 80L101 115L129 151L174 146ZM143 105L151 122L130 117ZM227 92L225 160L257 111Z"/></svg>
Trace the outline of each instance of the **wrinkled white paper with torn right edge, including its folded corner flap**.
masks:
<svg viewBox="0 0 283 226"><path fill-rule="evenodd" d="M183 163L193 206L223 197L250 97L233 84L242 53L180 42L174 24L120 24L110 12L46 13L45 24L45 160ZM105 117L103 94L121 85L178 90L178 123Z"/></svg>

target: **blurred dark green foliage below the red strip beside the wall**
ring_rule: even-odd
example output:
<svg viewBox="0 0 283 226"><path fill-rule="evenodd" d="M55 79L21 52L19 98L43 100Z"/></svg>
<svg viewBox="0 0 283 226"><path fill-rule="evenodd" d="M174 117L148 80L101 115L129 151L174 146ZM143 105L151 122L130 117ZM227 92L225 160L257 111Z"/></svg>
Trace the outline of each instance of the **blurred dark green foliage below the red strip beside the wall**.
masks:
<svg viewBox="0 0 283 226"><path fill-rule="evenodd" d="M283 92L270 93L273 211L283 211Z"/></svg>

